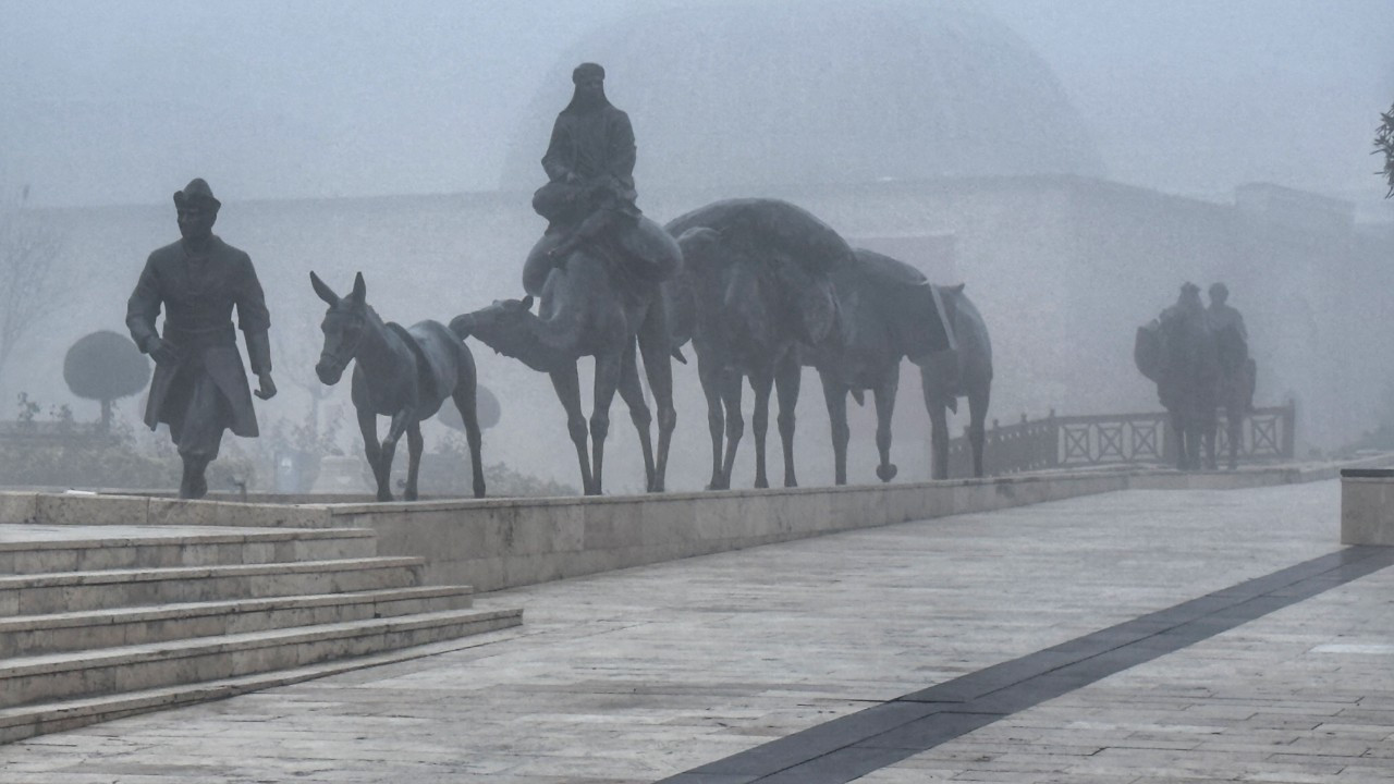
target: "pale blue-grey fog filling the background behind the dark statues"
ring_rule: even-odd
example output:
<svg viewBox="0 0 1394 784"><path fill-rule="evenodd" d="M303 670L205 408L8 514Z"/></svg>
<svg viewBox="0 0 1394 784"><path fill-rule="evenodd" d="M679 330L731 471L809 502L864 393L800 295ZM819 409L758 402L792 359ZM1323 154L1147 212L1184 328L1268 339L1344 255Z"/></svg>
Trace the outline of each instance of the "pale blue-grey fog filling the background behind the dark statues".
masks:
<svg viewBox="0 0 1394 784"><path fill-rule="evenodd" d="M93 417L63 384L63 352L124 332L145 255L177 237L170 194L195 176L268 290L283 395L258 403L263 430L301 421L315 391L309 269L342 292L362 271L369 301L404 324L521 296L545 227L527 202L537 160L570 68L594 59L634 120L654 219L776 195L855 244L944 240L938 262L910 261L966 282L993 326L994 419L1156 409L1133 328L1184 280L1224 276L1250 319L1260 402L1296 399L1302 446L1328 451L1394 419L1394 368L1358 349L1388 312L1373 290L1391 283L1394 202L1369 152L1394 102L1391 40L1394 0L0 0L0 211L61 248L52 307L0 365L0 420L20 392ZM965 186L984 179L1015 184ZM861 195L895 181L948 184ZM1255 230L1234 206L1249 183L1317 199L1302 215L1335 215L1335 233L1302 234L1301 216ZM576 485L546 378L474 350L503 407L485 460ZM693 368L675 375L669 484L693 488L705 409ZM917 379L902 392L896 458L902 478L924 478ZM831 476L821 405L810 370L809 484ZM326 406L357 449L347 393ZM606 480L634 490L619 400L612 414ZM870 481L857 416L853 481Z"/></svg>

